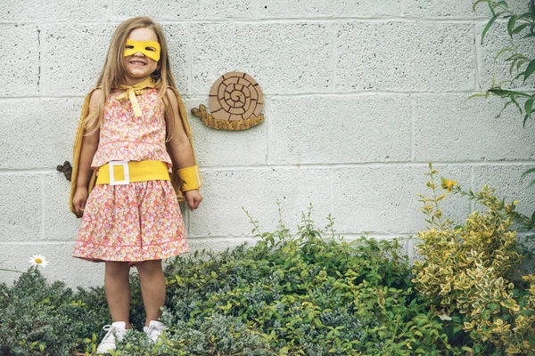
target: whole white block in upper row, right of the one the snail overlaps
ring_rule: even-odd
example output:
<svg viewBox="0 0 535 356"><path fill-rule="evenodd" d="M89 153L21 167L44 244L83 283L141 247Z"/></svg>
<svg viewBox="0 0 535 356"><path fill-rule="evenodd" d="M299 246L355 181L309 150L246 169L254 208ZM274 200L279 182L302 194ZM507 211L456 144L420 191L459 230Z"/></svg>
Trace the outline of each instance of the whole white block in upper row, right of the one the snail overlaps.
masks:
<svg viewBox="0 0 535 356"><path fill-rule="evenodd" d="M474 89L471 24L339 24L336 89L442 92Z"/></svg>

